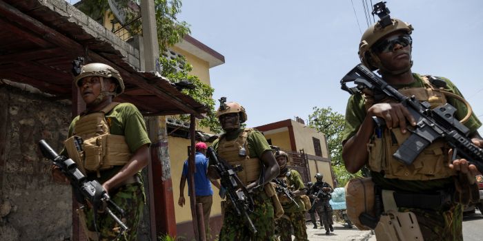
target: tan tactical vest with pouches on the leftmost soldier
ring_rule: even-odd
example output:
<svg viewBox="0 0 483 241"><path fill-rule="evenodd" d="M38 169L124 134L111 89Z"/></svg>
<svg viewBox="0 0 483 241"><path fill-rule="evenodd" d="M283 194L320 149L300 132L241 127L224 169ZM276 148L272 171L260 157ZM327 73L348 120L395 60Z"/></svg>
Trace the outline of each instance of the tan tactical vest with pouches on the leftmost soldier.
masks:
<svg viewBox="0 0 483 241"><path fill-rule="evenodd" d="M131 153L126 139L121 135L110 134L106 121L105 114L116 105L119 103L110 103L100 112L81 114L79 121L75 123L72 136L64 142L69 157L84 174L96 172L97 177L100 177L99 171L124 166L130 159Z"/></svg>

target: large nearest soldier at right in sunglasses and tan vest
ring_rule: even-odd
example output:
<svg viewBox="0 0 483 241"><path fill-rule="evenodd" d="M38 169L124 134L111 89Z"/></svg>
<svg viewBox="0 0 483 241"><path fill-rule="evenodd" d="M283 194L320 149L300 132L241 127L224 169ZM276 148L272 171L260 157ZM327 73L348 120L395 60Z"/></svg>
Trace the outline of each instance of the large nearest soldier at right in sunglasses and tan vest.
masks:
<svg viewBox="0 0 483 241"><path fill-rule="evenodd" d="M359 43L362 63L371 70L379 70L384 81L402 94L427 101L431 108L444 103L453 105L457 109L455 118L465 119L462 123L469 128L469 138L483 147L477 132L481 123L475 114L467 116L469 106L462 102L457 87L447 78L431 78L411 71L413 27L399 19L391 19L384 8L380 8L386 12L382 14L384 18L362 35ZM392 199L395 205L391 207L395 209L384 211L414 213L424 240L463 240L462 203L475 198L475 166L465 159L451 160L450 147L444 140L428 145L411 165L393 158L410 136L408 129L417 123L401 103L378 97L364 92L353 94L348 100L342 149L346 169L356 173L367 165L378 189L394 191L392 196L382 200L390 203ZM374 118L384 120L385 125L377 127ZM376 237L383 236L376 227Z"/></svg>

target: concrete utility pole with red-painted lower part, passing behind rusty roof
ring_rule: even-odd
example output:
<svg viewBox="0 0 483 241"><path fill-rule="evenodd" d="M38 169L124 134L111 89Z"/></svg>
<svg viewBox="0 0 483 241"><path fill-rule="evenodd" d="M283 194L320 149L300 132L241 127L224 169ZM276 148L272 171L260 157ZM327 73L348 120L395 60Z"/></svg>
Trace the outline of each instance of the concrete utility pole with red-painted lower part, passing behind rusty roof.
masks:
<svg viewBox="0 0 483 241"><path fill-rule="evenodd" d="M154 0L141 0L141 19L144 71L161 73ZM150 229L151 240L155 241L159 235L174 237L176 220L166 117L148 117L148 127L151 140L151 162L148 165Z"/></svg>

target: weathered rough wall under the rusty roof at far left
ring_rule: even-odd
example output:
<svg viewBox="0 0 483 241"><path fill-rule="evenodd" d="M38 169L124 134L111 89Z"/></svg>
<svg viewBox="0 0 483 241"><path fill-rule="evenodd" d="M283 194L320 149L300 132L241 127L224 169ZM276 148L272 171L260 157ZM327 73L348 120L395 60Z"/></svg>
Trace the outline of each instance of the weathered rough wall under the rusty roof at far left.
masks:
<svg viewBox="0 0 483 241"><path fill-rule="evenodd" d="M37 142L61 147L70 106L0 83L0 240L64 240L71 235L71 190L52 182Z"/></svg>

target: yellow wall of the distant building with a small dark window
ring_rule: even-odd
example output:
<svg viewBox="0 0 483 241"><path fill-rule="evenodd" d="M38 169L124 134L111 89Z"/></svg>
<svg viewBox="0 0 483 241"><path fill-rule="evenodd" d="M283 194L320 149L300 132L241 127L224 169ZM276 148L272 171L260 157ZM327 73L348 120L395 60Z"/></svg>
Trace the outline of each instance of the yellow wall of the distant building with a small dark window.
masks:
<svg viewBox="0 0 483 241"><path fill-rule="evenodd" d="M326 147L326 139L324 134L317 132L311 127L302 125L296 121L292 121L293 135L295 137L295 145L297 149L304 149L306 154L315 156L315 149L312 138L315 137L320 140L320 146L322 149L322 157L328 158L328 151Z"/></svg>

